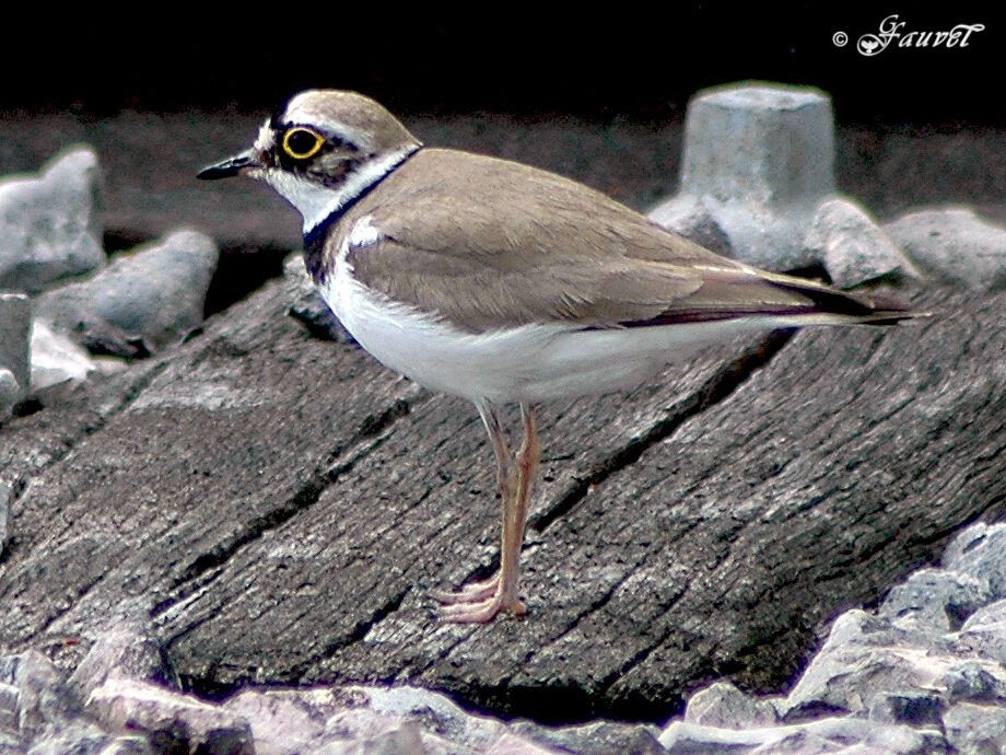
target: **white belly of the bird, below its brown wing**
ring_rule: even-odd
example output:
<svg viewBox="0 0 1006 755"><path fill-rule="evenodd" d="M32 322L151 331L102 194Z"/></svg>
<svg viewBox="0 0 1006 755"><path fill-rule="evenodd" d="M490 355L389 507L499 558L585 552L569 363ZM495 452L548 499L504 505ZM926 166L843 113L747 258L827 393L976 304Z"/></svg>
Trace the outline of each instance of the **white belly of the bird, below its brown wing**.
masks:
<svg viewBox="0 0 1006 755"><path fill-rule="evenodd" d="M606 330L525 325L473 335L389 302L344 269L320 292L346 329L386 367L434 391L494 403L618 391L711 341L773 327L740 318Z"/></svg>

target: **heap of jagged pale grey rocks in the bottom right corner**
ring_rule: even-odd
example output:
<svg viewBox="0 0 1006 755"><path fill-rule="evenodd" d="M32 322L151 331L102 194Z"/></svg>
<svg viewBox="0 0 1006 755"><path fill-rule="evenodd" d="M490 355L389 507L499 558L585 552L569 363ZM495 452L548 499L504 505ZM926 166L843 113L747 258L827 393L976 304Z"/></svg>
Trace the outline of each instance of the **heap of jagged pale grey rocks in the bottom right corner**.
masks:
<svg viewBox="0 0 1006 755"><path fill-rule="evenodd" d="M753 700L716 683L693 695L685 720L669 724L660 743L671 753L834 752L840 740L842 752L999 752L1006 601L995 601L989 584L1002 584L1004 534L1001 524L973 524L946 547L946 568L911 574L877 615L842 614L780 704L786 725L732 730ZM843 716L821 718L829 713ZM873 728L857 732L855 721Z"/></svg>

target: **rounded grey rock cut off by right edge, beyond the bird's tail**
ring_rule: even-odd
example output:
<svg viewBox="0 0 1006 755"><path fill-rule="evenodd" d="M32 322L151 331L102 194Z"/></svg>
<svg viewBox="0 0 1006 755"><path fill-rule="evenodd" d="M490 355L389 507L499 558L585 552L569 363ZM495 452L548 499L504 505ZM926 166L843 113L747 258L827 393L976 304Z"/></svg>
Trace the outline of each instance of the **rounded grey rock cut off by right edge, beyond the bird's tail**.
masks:
<svg viewBox="0 0 1006 755"><path fill-rule="evenodd" d="M924 272L980 291L1006 286L1006 229L971 209L909 212L884 230Z"/></svg>

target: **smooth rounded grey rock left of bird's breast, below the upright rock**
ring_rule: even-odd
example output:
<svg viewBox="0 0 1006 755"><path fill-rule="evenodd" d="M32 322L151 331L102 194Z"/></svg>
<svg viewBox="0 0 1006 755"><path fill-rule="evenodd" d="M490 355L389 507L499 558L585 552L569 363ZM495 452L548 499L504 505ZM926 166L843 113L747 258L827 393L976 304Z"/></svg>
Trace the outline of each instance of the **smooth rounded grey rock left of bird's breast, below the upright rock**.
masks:
<svg viewBox="0 0 1006 755"><path fill-rule="evenodd" d="M196 231L116 257L85 281L47 291L35 315L85 346L126 357L155 352L202 322L219 251Z"/></svg>

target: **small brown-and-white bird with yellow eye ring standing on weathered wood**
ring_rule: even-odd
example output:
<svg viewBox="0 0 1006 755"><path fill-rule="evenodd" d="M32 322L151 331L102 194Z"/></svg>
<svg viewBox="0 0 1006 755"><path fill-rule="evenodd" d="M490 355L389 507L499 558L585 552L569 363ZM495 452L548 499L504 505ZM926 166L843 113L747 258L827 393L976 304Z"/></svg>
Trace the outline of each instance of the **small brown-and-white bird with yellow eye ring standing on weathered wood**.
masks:
<svg viewBox="0 0 1006 755"><path fill-rule="evenodd" d="M355 92L293 95L250 148L198 174L231 176L300 211L305 267L363 349L481 417L503 507L499 569L434 592L447 622L527 612L518 559L541 403L631 387L744 332L924 314L720 256L555 173L425 147ZM504 405L519 407L515 451Z"/></svg>

